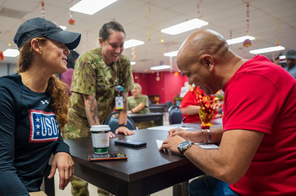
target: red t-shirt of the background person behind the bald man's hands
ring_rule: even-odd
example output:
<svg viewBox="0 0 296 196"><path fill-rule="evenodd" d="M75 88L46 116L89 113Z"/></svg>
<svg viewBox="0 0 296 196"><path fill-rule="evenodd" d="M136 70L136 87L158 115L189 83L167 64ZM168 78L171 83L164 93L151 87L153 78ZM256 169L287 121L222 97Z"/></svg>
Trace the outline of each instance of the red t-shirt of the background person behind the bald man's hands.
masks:
<svg viewBox="0 0 296 196"><path fill-rule="evenodd" d="M200 88L195 87L195 90L189 90L184 97L182 98L181 101L181 106L180 109L186 107L186 106L198 106L197 105L197 101L196 101L196 92L200 91L201 93L205 93L203 90L200 90ZM188 115L188 114L183 114L184 118L186 116L186 119L184 121L184 123L192 123L192 122L199 122L200 121L200 116L199 114L195 114L195 115Z"/></svg>

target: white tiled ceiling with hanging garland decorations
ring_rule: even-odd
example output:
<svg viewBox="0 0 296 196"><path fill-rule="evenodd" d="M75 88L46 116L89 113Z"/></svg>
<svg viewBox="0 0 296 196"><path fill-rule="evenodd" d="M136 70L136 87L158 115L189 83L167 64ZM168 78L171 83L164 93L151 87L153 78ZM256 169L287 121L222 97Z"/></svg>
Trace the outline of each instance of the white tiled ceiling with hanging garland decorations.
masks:
<svg viewBox="0 0 296 196"><path fill-rule="evenodd" d="M71 13L69 8L71 4L75 5L79 1L73 0L71 3L71 0L44 0L45 18L67 26L67 31L81 33L81 41L76 48L80 54L97 47L99 29L104 23L110 20L120 22L126 31L126 40L137 39L145 42L144 45L136 46L136 58L132 60L136 62L136 65L132 65L133 72L144 73L146 68L148 73L149 67L157 66L161 61L164 65L170 65L169 57L163 56L163 53L178 50L184 39L197 29L177 35L161 33L160 30L199 18L201 14L198 14L198 3L202 13L201 19L209 23L201 29L212 29L226 39L230 39L230 32L232 38L244 35L256 37L252 41L252 46L247 48L243 47L242 43L230 45L232 51L245 59L254 57L249 50L276 46L277 34L279 44L286 48L284 53L296 48L296 0L118 0L93 15L73 12L75 25L69 25L69 13ZM0 0L0 10L8 8L28 12L22 19L0 16L1 51L9 48L8 40L11 48L17 49L13 42L17 28L24 20L42 17L41 2L41 0ZM250 4L248 34L246 33L247 2ZM149 14L148 19L147 14ZM276 24L277 20L280 28ZM152 24L150 28L149 24ZM149 30L151 30L151 41L148 41L147 36ZM160 38L164 40L162 46ZM123 54L131 60L133 57L131 52L131 48L127 48ZM280 51L277 51L274 55L279 53ZM272 59L273 52L262 55ZM6 57L5 62L15 62L15 59ZM173 57L172 64L173 71L178 71L176 57Z"/></svg>

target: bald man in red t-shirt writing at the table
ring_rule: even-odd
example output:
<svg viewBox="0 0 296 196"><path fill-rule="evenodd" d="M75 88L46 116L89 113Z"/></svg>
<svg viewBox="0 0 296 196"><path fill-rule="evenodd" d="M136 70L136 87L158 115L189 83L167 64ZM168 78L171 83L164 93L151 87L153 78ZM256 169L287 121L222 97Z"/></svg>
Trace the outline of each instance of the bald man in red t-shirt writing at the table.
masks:
<svg viewBox="0 0 296 196"><path fill-rule="evenodd" d="M219 149L192 144L203 142L202 131L175 129L159 149L184 154L214 177L202 188L191 182L190 195L296 195L295 78L264 56L239 57L208 29L186 38L177 65L189 85L207 95L225 93L223 126L210 130L210 143L221 142Z"/></svg>

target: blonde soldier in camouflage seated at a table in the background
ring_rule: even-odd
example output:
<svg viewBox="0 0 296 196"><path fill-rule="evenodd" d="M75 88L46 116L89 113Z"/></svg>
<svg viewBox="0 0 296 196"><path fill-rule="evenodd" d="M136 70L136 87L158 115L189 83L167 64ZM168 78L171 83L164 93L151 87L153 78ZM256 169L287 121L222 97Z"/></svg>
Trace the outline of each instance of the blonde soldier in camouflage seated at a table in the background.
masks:
<svg viewBox="0 0 296 196"><path fill-rule="evenodd" d="M148 103L148 96L147 95L142 95L142 87L140 84L135 83L135 88L131 90L132 96L128 97L128 114L132 113L141 113L141 114L146 114L150 113L149 110L149 103ZM143 122L138 122L135 123L135 125L139 129L144 129L147 127L152 127L154 125L154 121L143 121Z"/></svg>

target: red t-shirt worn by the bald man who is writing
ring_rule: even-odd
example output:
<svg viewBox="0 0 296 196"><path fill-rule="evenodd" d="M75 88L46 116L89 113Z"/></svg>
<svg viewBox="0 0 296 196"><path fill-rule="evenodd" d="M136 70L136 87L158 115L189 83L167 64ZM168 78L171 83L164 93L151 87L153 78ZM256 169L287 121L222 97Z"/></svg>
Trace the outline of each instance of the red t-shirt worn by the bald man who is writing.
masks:
<svg viewBox="0 0 296 196"><path fill-rule="evenodd" d="M240 195L296 195L296 79L257 55L223 91L224 131L265 133L247 173L231 189Z"/></svg>

